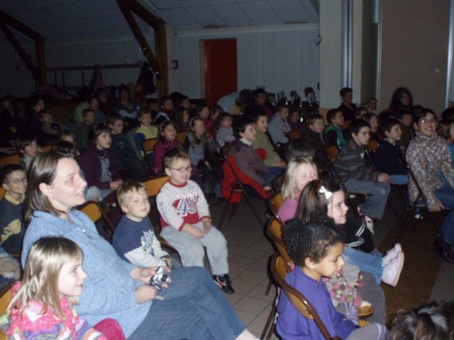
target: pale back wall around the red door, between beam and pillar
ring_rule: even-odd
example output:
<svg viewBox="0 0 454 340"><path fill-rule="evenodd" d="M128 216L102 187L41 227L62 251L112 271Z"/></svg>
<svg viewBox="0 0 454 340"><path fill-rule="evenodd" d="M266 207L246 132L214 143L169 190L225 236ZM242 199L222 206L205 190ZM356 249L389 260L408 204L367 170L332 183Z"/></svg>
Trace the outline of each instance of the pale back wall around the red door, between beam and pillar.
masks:
<svg viewBox="0 0 454 340"><path fill-rule="evenodd" d="M201 40L236 38L238 91L265 86L269 92L292 90L301 95L306 86L317 91L319 47L315 40L319 29L314 24L263 28L238 28L177 33L177 51L169 60L178 60L175 88L191 98L201 97ZM172 42L168 42L172 46Z"/></svg>

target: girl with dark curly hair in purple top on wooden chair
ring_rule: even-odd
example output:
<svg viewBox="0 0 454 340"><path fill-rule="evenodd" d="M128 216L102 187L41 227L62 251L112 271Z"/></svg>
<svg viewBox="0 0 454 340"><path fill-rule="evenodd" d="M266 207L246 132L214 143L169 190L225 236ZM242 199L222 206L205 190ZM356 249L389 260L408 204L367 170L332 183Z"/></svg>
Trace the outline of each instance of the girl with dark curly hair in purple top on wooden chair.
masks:
<svg viewBox="0 0 454 340"><path fill-rule="evenodd" d="M322 277L334 277L343 267L343 237L333 222L325 219L304 224L295 218L283 230L290 258L297 265L285 281L301 291L311 302L330 336L341 339L386 339L382 324L369 324L356 329L355 324L336 312ZM277 333L282 340L321 339L324 337L314 320L302 315L282 294L277 305Z"/></svg>

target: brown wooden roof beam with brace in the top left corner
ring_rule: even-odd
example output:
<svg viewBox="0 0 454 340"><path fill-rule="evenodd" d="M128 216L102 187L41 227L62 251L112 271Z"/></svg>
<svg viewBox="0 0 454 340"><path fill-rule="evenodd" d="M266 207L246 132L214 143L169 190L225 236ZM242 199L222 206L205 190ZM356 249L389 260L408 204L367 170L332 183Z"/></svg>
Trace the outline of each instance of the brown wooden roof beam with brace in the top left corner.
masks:
<svg viewBox="0 0 454 340"><path fill-rule="evenodd" d="M21 46L21 43L18 42L16 37L14 37L13 32L9 29L9 27L18 30L18 32L26 35L26 37L30 38L35 42L35 51L36 51L36 62L38 67L31 61L30 56L26 53L26 51ZM20 21L16 20L9 14L5 13L4 11L0 10L0 29L6 35L6 38L9 40L11 45L13 45L14 50L18 53L21 57L23 62L26 64L27 69L32 72L33 79L38 81L40 84L46 83L46 74L45 74L45 38L43 35L40 35L35 30L32 30L28 26L24 25Z"/></svg>

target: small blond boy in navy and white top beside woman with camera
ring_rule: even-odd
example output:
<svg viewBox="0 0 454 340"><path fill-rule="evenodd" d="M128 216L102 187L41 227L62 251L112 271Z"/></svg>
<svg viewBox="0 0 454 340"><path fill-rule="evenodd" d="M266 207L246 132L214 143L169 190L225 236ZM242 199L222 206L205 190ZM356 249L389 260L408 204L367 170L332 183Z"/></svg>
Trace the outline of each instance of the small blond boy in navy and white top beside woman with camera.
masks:
<svg viewBox="0 0 454 340"><path fill-rule="evenodd" d="M181 267L162 250L153 232L148 218L150 202L143 183L128 179L118 188L116 198L124 214L112 236L112 246L118 256L141 267Z"/></svg>

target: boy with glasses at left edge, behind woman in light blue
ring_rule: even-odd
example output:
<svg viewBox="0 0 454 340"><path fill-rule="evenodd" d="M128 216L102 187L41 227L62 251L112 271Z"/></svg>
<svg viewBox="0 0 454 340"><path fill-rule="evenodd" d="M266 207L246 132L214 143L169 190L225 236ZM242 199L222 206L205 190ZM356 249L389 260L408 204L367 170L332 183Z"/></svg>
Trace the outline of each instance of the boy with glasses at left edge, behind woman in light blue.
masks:
<svg viewBox="0 0 454 340"><path fill-rule="evenodd" d="M27 174L22 166L8 164L0 171L0 181L5 189L5 196L0 200L0 245L9 253L17 253L22 249L25 234L22 212Z"/></svg>

